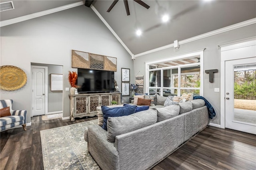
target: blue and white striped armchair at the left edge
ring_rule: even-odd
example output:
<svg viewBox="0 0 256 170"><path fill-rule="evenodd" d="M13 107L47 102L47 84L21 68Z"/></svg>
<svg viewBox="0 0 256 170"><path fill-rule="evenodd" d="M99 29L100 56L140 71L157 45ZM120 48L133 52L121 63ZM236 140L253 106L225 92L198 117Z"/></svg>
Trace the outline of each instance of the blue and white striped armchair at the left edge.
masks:
<svg viewBox="0 0 256 170"><path fill-rule="evenodd" d="M0 100L0 109L4 107L10 107L10 116L0 117L1 132L12 127L22 125L24 131L26 131L26 110L12 110L13 100Z"/></svg>

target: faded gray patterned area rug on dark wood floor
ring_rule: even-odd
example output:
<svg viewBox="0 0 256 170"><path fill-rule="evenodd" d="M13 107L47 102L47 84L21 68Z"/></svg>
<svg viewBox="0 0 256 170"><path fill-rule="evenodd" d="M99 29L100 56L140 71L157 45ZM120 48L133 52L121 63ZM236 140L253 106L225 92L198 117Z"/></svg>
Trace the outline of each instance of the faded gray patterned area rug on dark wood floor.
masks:
<svg viewBox="0 0 256 170"><path fill-rule="evenodd" d="M87 150L84 129L98 120L40 131L45 170L100 170Z"/></svg>

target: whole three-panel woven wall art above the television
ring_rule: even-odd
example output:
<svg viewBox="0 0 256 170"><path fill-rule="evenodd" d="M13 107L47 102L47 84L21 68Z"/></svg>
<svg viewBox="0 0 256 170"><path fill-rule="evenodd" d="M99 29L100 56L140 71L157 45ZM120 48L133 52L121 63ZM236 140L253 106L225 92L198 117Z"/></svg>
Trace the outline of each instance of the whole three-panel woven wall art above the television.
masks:
<svg viewBox="0 0 256 170"><path fill-rule="evenodd" d="M116 71L117 58L72 50L72 67Z"/></svg>

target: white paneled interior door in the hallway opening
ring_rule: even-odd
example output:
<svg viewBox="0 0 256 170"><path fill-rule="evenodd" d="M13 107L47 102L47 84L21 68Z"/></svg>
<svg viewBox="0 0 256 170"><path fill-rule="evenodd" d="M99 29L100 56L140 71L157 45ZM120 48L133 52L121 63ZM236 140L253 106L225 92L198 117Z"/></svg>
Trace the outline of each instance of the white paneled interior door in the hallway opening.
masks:
<svg viewBox="0 0 256 170"><path fill-rule="evenodd" d="M47 67L32 66L32 115L33 116L45 115L46 113L46 98L47 98L46 72L47 72Z"/></svg>

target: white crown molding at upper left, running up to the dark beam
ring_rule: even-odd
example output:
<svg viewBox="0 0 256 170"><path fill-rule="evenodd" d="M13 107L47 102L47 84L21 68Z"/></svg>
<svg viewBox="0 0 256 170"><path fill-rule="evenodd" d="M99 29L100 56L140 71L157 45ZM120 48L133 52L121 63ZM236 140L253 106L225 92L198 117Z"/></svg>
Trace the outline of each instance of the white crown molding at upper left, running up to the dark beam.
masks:
<svg viewBox="0 0 256 170"><path fill-rule="evenodd" d="M80 2L73 3L73 4L68 4L68 5L57 7L57 8L52 8L50 10L36 12L34 14L29 14L29 15L26 15L26 16L17 17L17 18L13 18L13 19L10 19L10 20L0 21L0 27L6 26L6 25L11 25L11 24L14 24L14 23L22 22L22 21L26 21L26 20L30 20L30 19L37 18L37 17L40 17L40 16L45 16L45 15L52 14L52 13L55 13L55 12L59 12L59 11L62 11L62 10L67 10L69 8L74 8L74 7L80 6L80 5L84 5L84 2L80 1Z"/></svg>

